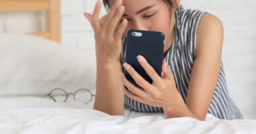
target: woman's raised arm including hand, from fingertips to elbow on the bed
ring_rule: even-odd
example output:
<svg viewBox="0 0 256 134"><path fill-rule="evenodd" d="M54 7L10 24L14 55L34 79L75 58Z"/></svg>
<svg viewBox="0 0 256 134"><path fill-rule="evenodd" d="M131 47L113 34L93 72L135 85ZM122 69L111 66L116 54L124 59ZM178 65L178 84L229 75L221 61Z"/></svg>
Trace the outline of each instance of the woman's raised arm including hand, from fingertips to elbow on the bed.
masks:
<svg viewBox="0 0 256 134"><path fill-rule="evenodd" d="M118 0L110 12L99 19L101 1L96 3L93 14L85 13L91 23L95 37L97 60L96 97L93 109L110 115L124 115L124 93L120 76L122 36L128 25L123 19L125 7Z"/></svg>

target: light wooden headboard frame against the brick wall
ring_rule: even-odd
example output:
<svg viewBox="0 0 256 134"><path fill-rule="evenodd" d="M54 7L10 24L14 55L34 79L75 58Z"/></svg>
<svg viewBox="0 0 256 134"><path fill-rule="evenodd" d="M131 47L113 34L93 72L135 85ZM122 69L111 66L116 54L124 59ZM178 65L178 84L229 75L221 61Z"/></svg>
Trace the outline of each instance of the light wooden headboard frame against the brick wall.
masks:
<svg viewBox="0 0 256 134"><path fill-rule="evenodd" d="M0 0L0 12L45 10L45 32L29 33L61 42L60 0Z"/></svg>

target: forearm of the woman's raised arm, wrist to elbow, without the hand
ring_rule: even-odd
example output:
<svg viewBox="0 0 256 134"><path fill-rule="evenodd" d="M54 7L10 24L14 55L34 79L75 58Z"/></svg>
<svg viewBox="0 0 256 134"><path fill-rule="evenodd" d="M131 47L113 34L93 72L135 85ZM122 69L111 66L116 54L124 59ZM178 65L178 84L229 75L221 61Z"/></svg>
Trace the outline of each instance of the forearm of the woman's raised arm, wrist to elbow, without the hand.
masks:
<svg viewBox="0 0 256 134"><path fill-rule="evenodd" d="M96 97L93 109L110 115L124 115L124 93L120 83L120 61L97 63Z"/></svg>

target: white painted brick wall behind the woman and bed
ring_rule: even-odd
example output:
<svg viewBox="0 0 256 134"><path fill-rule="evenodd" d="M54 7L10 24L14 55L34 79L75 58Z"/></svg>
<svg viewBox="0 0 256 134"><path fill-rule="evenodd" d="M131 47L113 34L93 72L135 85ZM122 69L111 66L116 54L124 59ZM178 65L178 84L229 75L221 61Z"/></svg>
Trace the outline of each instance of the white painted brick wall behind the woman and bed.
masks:
<svg viewBox="0 0 256 134"><path fill-rule="evenodd" d="M61 0L62 42L81 49L94 49L93 29L83 12L93 12L97 0ZM224 23L223 62L231 98L245 117L256 119L256 1L181 0L186 8L205 10ZM101 16L106 12L102 8ZM0 14L0 33L43 30L40 12ZM248 105L253 102L252 105Z"/></svg>

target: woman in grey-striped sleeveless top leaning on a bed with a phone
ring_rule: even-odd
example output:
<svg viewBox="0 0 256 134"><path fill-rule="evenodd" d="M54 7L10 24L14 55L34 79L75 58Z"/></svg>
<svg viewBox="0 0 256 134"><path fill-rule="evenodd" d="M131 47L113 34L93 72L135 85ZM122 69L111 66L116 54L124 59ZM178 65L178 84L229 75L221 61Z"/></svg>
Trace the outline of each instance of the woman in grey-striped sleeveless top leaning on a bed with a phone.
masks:
<svg viewBox="0 0 256 134"><path fill-rule="evenodd" d="M163 112L166 119L187 116L204 121L207 113L219 119L243 119L229 98L221 62L223 25L216 16L185 10L180 0L103 0L103 3L110 10L103 18L99 19L100 1L92 15L84 14L93 26L96 40L94 109L124 115L125 102L135 111ZM162 77L144 57L137 57L152 84L131 65L122 63L122 43L125 45L122 36L130 29L165 34ZM125 78L122 67L143 90Z"/></svg>

